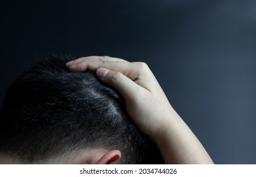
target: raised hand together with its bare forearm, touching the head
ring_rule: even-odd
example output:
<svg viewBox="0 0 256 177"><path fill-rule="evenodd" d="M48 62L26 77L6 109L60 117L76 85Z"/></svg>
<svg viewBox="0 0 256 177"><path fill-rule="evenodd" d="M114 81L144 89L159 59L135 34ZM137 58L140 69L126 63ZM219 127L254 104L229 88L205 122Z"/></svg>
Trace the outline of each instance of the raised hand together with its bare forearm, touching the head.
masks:
<svg viewBox="0 0 256 177"><path fill-rule="evenodd" d="M136 125L157 143L166 164L214 164L198 138L170 105L146 63L89 56L66 64L72 71L96 71L115 88Z"/></svg>

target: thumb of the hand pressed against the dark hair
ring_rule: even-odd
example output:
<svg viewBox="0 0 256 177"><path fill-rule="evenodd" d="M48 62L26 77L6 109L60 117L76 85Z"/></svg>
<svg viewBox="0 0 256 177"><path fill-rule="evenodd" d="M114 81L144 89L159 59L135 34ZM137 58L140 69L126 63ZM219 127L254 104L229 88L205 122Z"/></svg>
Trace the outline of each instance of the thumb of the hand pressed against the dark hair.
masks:
<svg viewBox="0 0 256 177"><path fill-rule="evenodd" d="M130 78L120 72L110 71L106 68L98 68L96 71L98 78L116 89L124 97L125 101L131 100L134 95L138 94L141 87L133 82Z"/></svg>

